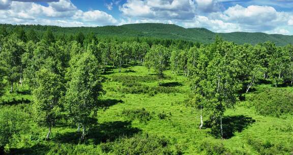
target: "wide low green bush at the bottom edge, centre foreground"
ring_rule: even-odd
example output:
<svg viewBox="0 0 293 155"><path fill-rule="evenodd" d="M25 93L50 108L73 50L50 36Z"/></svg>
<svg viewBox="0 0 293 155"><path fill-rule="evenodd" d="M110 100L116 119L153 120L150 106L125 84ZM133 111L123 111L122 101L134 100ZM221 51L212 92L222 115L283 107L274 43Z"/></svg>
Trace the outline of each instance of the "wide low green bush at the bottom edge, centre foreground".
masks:
<svg viewBox="0 0 293 155"><path fill-rule="evenodd" d="M113 154L181 154L180 149L172 150L165 137L137 134L131 138L120 138L115 142L101 144L101 149Z"/></svg>

